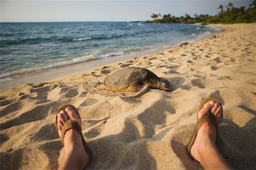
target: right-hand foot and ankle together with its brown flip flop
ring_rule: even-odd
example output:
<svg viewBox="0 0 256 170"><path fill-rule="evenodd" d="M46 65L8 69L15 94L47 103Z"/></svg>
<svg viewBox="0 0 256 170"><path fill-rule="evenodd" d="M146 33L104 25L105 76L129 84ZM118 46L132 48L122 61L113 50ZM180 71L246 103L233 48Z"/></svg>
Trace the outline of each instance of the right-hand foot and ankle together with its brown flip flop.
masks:
<svg viewBox="0 0 256 170"><path fill-rule="evenodd" d="M209 98L200 105L199 110L197 113L198 130L192 138L195 141L189 142L189 154L200 162L204 169L232 169L215 144L223 116L220 101Z"/></svg>

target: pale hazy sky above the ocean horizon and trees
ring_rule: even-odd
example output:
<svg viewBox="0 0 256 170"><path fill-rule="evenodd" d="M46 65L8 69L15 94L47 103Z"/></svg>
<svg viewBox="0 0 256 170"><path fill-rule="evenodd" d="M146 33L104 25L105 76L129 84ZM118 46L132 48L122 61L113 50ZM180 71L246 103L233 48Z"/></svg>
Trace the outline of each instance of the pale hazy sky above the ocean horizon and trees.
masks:
<svg viewBox="0 0 256 170"><path fill-rule="evenodd" d="M13 1L0 0L0 22L108 22L146 21L150 15L216 15L232 2L246 8L253 0L240 1Z"/></svg>

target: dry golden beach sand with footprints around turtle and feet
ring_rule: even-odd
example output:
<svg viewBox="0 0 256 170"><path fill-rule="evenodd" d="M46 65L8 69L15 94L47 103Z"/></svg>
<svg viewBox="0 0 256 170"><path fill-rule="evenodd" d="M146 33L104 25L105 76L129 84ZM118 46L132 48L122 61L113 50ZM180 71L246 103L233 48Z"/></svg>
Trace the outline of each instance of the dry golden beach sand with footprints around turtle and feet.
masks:
<svg viewBox="0 0 256 170"><path fill-rule="evenodd" d="M65 154L55 129L57 109L79 109L93 160L88 169L200 169L186 146L206 97L224 109L217 138L233 168L256 167L256 24L218 27L216 37L101 66L62 80L24 84L0 95L1 169L56 169ZM104 87L121 67L138 66L171 82L138 99Z"/></svg>

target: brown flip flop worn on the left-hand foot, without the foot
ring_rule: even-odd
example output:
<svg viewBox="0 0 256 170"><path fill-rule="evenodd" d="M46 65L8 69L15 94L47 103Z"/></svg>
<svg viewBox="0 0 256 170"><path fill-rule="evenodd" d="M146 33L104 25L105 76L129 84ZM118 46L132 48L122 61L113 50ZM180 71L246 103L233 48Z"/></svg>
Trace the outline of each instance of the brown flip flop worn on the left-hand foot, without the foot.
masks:
<svg viewBox="0 0 256 170"><path fill-rule="evenodd" d="M63 107L61 107L59 109L59 111L57 113L59 113L60 111L65 111L65 108L72 108L73 111L75 111L76 113L76 116L79 118L80 120L80 125L81 125L81 117L80 117L80 114L79 114L79 111L77 111L76 107L74 107L73 105L71 104L68 104L68 105L64 105ZM58 131L58 128L57 128L57 114L56 114L56 119L55 119L55 126L56 126L56 129ZM91 162L92 160L92 152L90 152L89 150L89 147L87 146L86 142L85 142L85 139L84 139L84 136L82 135L82 128L81 126L79 126L79 124L77 124L76 121L73 121L69 118L69 120L67 120L63 126L63 129L61 130L61 142L64 146L64 135L66 133L66 131L68 131L69 129L75 129L81 136L82 138L82 145L84 145L84 149L85 149L85 152L88 154L89 156L89 163Z"/></svg>

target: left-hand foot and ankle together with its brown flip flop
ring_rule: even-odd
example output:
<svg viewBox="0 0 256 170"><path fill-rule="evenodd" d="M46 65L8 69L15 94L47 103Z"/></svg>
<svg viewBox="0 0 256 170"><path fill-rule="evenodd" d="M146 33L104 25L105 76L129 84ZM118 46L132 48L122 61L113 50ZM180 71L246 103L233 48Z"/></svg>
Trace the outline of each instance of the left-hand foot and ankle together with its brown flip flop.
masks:
<svg viewBox="0 0 256 170"><path fill-rule="evenodd" d="M86 148L81 135L81 121L77 109L72 105L61 108L57 113L56 122L65 149L65 158L60 169L85 168L89 164L91 155L89 156L90 151Z"/></svg>

